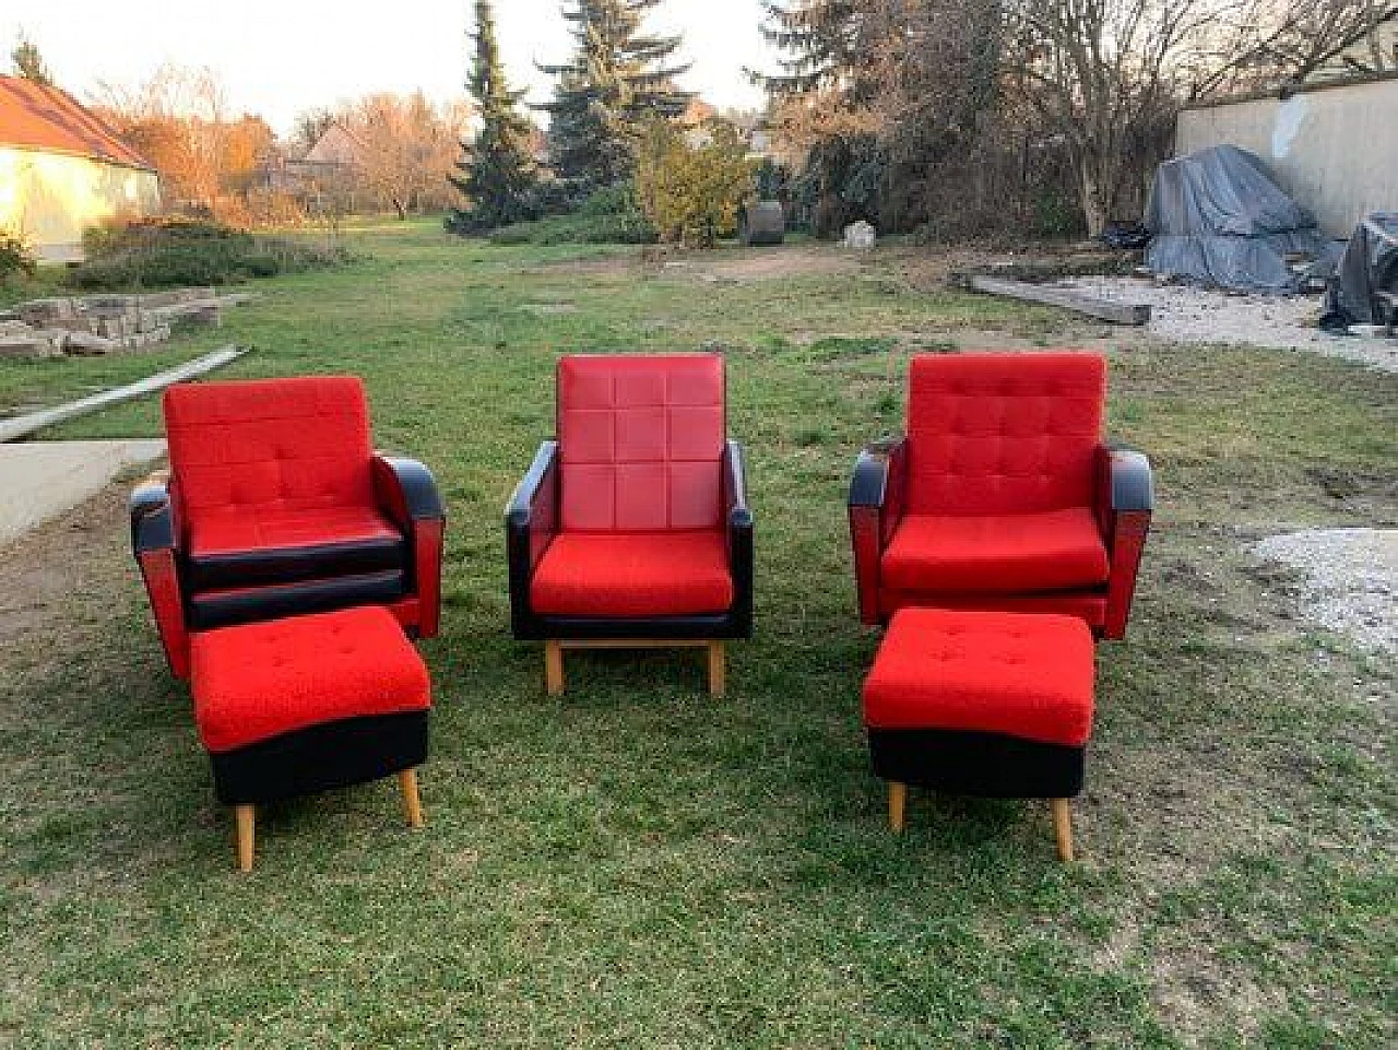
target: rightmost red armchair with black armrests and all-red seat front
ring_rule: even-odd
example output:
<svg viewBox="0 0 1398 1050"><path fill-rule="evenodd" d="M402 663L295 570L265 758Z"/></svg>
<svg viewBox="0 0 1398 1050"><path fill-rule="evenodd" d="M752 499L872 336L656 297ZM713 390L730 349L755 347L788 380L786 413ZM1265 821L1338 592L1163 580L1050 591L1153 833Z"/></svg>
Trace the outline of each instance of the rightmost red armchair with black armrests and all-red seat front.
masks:
<svg viewBox="0 0 1398 1050"><path fill-rule="evenodd" d="M1102 442L1097 354L930 354L907 435L850 485L860 618L905 605L1067 612L1125 633L1151 526L1151 464Z"/></svg>

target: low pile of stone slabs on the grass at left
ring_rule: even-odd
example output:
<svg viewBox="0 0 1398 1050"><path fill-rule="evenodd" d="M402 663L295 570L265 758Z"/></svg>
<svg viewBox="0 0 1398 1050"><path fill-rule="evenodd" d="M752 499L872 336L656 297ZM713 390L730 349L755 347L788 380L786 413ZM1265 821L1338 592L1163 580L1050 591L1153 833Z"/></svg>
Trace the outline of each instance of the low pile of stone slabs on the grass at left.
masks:
<svg viewBox="0 0 1398 1050"><path fill-rule="evenodd" d="M140 350L171 337L176 324L218 326L225 306L256 298L214 288L145 295L31 299L0 313L0 357L92 357Z"/></svg>

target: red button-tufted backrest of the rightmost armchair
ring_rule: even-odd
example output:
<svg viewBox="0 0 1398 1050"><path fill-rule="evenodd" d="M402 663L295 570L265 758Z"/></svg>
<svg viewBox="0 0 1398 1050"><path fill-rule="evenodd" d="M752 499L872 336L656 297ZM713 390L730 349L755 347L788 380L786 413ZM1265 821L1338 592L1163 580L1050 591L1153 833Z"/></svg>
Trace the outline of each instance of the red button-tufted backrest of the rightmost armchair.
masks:
<svg viewBox="0 0 1398 1050"><path fill-rule="evenodd" d="M1093 502L1100 354L925 354L907 383L909 513L998 515Z"/></svg>

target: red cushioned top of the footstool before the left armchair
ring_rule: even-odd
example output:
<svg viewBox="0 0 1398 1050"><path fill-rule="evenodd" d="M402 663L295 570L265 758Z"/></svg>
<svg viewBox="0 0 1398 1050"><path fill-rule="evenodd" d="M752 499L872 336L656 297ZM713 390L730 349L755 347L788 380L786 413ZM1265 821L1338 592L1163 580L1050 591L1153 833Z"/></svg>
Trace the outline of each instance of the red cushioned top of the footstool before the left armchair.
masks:
<svg viewBox="0 0 1398 1050"><path fill-rule="evenodd" d="M200 740L215 752L432 703L422 659L383 608L197 633L190 678Z"/></svg>

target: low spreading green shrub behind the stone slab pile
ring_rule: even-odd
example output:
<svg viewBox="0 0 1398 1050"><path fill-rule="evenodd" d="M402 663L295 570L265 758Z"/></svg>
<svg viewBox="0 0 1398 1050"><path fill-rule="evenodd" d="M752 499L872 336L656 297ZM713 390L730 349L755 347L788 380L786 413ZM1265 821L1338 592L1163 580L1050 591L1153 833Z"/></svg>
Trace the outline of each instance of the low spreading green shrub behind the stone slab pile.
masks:
<svg viewBox="0 0 1398 1050"><path fill-rule="evenodd" d="M91 291L229 284L340 266L344 249L320 249L259 238L217 222L141 220L84 231L87 261L67 282Z"/></svg>

